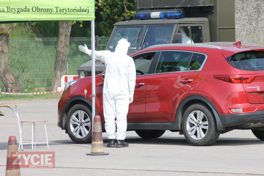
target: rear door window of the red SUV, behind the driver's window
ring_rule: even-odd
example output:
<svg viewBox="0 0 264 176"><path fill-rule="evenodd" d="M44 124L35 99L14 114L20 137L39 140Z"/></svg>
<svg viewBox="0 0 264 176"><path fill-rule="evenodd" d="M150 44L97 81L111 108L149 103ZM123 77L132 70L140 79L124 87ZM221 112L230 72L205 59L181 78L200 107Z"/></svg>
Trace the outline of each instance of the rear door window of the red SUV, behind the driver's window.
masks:
<svg viewBox="0 0 264 176"><path fill-rule="evenodd" d="M187 71L191 55L191 52L162 51L156 73Z"/></svg>

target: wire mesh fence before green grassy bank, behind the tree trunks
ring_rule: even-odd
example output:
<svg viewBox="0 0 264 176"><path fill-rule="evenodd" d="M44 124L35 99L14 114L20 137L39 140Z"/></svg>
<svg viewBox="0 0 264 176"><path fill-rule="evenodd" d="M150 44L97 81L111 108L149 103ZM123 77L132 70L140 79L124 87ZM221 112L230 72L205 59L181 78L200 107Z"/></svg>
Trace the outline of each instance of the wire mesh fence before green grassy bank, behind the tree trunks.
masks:
<svg viewBox="0 0 264 176"><path fill-rule="evenodd" d="M99 37L98 50L105 50L109 37ZM9 39L8 60L15 80L25 89L50 87L54 71L58 38ZM68 74L77 75L80 65L91 58L78 50L79 45L91 48L90 37L70 38ZM0 80L1 91L4 90Z"/></svg>

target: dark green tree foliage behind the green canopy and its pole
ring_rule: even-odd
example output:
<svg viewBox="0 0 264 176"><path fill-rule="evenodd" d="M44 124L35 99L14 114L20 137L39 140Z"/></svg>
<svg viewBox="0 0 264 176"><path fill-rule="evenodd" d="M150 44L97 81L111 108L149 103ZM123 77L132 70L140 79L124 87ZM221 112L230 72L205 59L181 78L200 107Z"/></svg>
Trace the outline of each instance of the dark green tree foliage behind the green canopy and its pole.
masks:
<svg viewBox="0 0 264 176"><path fill-rule="evenodd" d="M131 20L135 14L134 0L95 0L95 35L110 37L114 24ZM58 37L59 22L32 22L36 37ZM70 37L90 37L90 21L73 21Z"/></svg>

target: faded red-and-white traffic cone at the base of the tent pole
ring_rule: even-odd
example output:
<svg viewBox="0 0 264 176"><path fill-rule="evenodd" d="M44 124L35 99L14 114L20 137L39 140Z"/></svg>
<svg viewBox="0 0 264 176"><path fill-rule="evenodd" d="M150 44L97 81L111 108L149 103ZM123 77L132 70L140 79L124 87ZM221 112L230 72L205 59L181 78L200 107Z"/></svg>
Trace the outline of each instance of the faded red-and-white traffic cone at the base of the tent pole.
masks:
<svg viewBox="0 0 264 176"><path fill-rule="evenodd" d="M103 150L103 135L100 116L94 117L92 149L91 153L87 153L86 155L109 155L109 153L105 153Z"/></svg>

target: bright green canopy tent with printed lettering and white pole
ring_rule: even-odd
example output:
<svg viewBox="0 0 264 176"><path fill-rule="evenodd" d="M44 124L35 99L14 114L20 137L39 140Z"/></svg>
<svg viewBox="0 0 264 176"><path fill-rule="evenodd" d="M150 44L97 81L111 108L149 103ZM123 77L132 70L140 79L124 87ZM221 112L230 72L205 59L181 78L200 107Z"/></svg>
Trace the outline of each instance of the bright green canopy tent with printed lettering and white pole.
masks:
<svg viewBox="0 0 264 176"><path fill-rule="evenodd" d="M32 21L91 21L92 120L95 116L95 1L94 0L1 0L0 23ZM77 49L77 47L76 47Z"/></svg>

